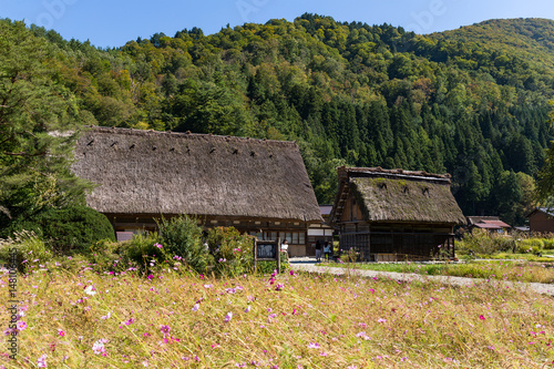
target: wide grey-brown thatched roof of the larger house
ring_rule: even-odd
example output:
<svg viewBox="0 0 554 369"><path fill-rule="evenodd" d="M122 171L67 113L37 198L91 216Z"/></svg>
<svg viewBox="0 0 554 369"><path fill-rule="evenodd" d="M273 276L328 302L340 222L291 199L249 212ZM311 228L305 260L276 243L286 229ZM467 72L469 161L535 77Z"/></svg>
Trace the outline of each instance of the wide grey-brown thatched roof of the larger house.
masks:
<svg viewBox="0 0 554 369"><path fill-rule="evenodd" d="M92 127L72 170L111 214L195 214L321 222L294 142Z"/></svg>

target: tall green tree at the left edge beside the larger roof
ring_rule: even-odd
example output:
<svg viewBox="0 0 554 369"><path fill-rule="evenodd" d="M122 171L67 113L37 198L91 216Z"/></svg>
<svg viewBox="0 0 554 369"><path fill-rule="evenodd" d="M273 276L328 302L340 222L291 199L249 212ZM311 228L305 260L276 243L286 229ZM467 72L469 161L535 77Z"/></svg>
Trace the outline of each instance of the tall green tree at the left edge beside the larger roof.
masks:
<svg viewBox="0 0 554 369"><path fill-rule="evenodd" d="M83 199L69 171L84 119L50 66L55 47L22 22L0 21L0 205L3 219Z"/></svg>

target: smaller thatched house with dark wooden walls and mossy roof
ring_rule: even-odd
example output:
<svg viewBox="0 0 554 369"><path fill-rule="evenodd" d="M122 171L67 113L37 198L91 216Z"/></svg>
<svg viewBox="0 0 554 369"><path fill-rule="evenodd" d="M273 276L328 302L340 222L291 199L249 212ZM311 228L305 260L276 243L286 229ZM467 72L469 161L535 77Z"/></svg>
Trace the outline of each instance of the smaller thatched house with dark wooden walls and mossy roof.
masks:
<svg viewBox="0 0 554 369"><path fill-rule="evenodd" d="M361 260L429 259L454 255L453 226L465 217L450 192L450 175L339 167L330 215L340 248Z"/></svg>

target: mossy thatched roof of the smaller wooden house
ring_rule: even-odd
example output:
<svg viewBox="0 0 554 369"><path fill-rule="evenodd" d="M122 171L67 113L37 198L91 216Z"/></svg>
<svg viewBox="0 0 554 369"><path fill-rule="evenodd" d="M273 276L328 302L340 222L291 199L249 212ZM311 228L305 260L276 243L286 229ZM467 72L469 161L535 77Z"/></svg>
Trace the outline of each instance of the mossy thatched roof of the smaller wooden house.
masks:
<svg viewBox="0 0 554 369"><path fill-rule="evenodd" d="M340 217L349 192L369 222L465 224L450 192L450 175L381 168L339 170L339 193L331 214Z"/></svg>

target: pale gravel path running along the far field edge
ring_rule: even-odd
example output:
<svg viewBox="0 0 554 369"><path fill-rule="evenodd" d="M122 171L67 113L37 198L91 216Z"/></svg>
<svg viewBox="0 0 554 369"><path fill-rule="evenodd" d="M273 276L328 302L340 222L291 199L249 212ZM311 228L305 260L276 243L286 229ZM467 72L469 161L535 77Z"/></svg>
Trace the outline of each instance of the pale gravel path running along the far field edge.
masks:
<svg viewBox="0 0 554 369"><path fill-rule="evenodd" d="M521 288L531 289L538 294L554 296L554 285L536 284L536 283L512 283L506 280L495 280L495 279L483 279L483 278L464 278L464 277L448 277L448 276L421 276L418 274L408 273L394 273L394 271L377 271L377 270L361 270L361 269L347 269L347 268L334 268L334 267L322 267L316 266L315 263L309 260L299 260L290 263L290 268L297 271L309 271L309 273L321 273L321 274L332 274L332 275L345 275L347 273L360 276L360 277L388 277L396 280L418 280L418 281L439 281L447 285L454 286L473 286L480 283L495 281L502 284L509 288Z"/></svg>

